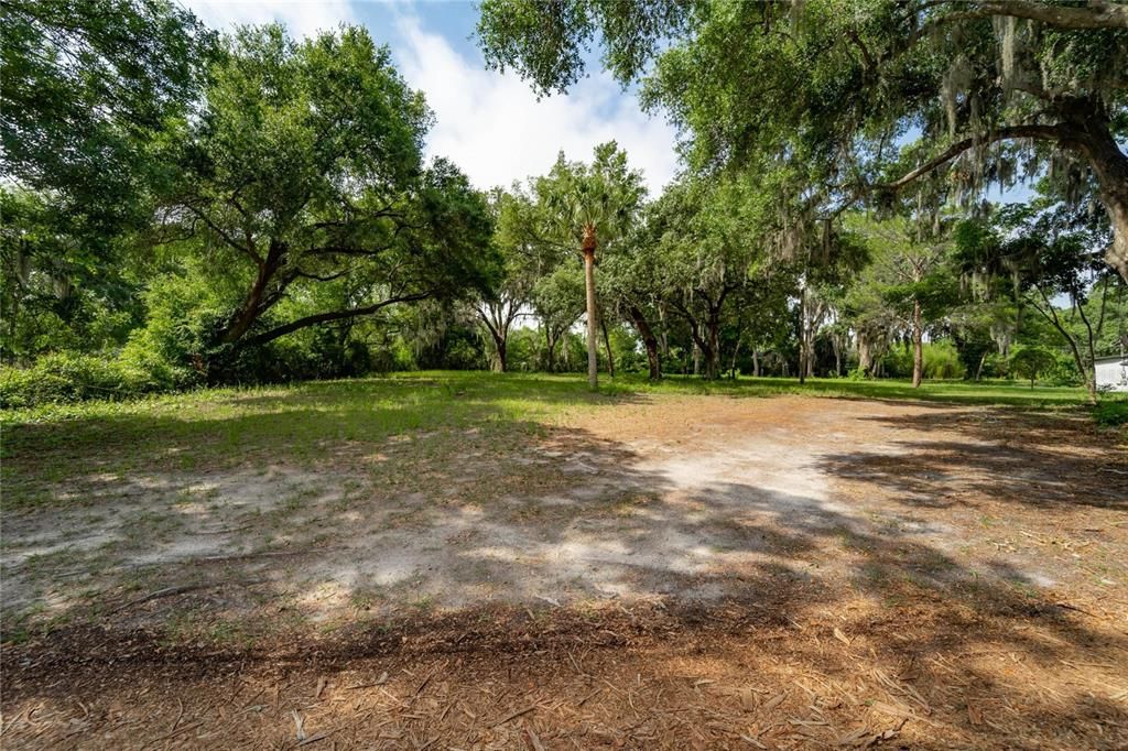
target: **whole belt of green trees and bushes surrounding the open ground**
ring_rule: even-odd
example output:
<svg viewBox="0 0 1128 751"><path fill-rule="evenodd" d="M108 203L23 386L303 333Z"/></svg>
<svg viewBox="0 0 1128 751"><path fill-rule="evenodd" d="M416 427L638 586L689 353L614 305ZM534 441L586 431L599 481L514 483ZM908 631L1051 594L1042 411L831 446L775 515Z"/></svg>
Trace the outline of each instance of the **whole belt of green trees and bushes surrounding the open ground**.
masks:
<svg viewBox="0 0 1128 751"><path fill-rule="evenodd" d="M969 6L484 2L490 67L565 91L598 41L672 118L649 195L614 141L472 185L360 26L7 3L0 407L429 369L1095 404L1128 346L1128 29Z"/></svg>

